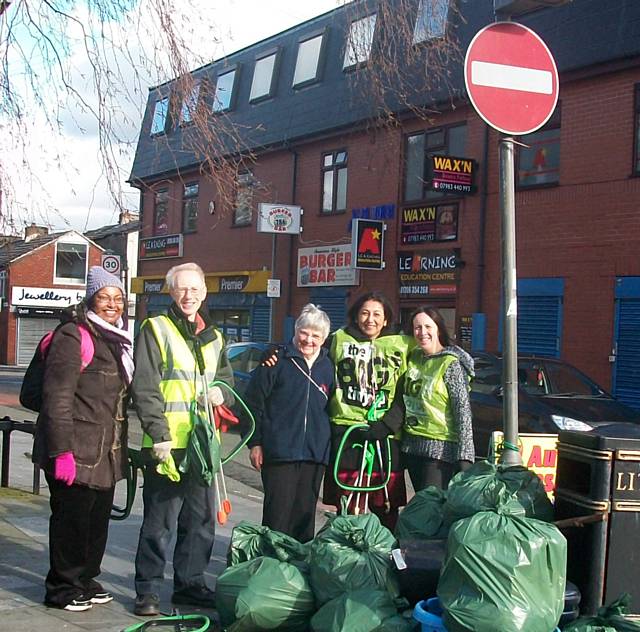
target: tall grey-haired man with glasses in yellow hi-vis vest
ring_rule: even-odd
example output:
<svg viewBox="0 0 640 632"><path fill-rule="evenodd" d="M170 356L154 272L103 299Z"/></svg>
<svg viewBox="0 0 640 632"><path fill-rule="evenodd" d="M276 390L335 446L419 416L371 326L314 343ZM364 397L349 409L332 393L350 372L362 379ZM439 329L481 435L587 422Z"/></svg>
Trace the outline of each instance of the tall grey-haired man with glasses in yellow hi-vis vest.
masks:
<svg viewBox="0 0 640 632"><path fill-rule="evenodd" d="M195 263L167 272L173 303L167 314L148 318L136 340L133 401L143 436L144 518L136 553L137 615L160 612L160 584L167 548L177 532L173 553L176 604L213 607L214 592L204 581L215 534L215 493L189 472L180 480L165 475L159 463L182 462L193 429L196 402L232 403L228 389L208 388L213 380L233 385L222 334L214 327L206 303L204 273ZM224 392L223 392L224 391ZM175 479L176 477L174 477Z"/></svg>

